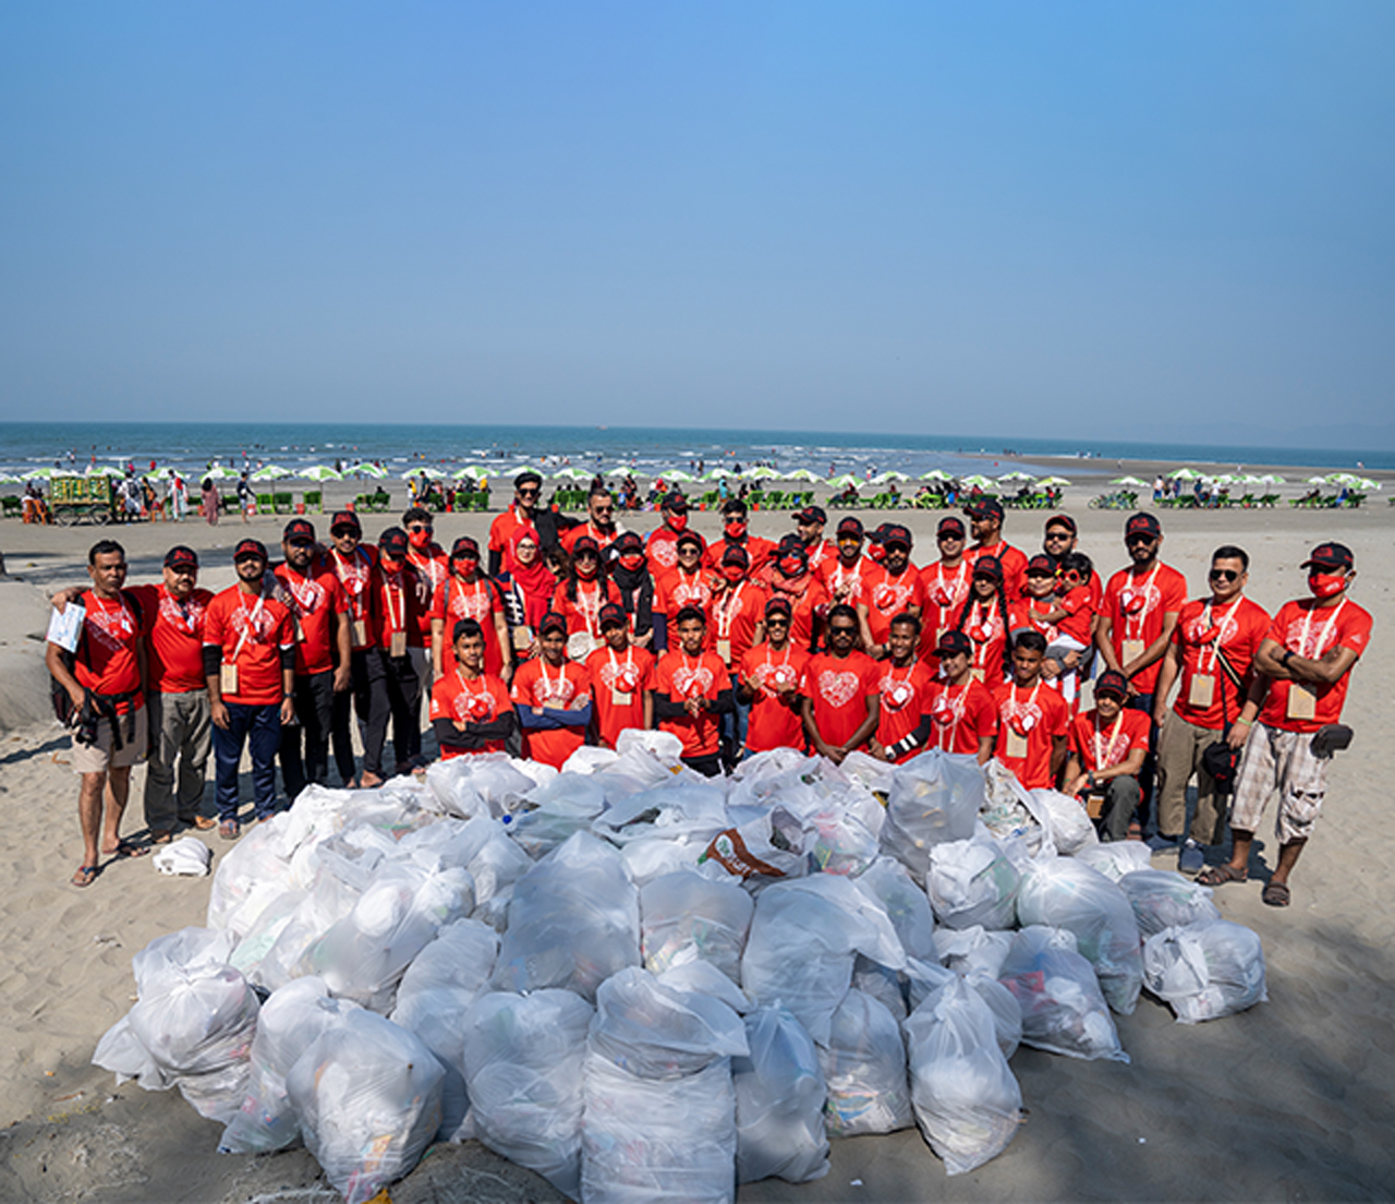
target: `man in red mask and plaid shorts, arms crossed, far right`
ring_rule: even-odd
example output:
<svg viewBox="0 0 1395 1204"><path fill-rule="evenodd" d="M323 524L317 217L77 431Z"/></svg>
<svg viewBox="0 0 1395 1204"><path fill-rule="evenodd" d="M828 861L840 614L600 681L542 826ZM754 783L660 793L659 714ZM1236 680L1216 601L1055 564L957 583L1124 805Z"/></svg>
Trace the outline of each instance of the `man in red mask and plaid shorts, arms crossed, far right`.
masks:
<svg viewBox="0 0 1395 1204"><path fill-rule="evenodd" d="M1356 580L1352 549L1320 543L1302 567L1313 596L1285 602L1274 616L1254 654L1256 686L1237 721L1250 726L1250 736L1230 805L1235 851L1228 865L1197 877L1208 887L1246 880L1254 834L1276 792L1279 863L1261 894L1269 906L1289 905L1289 876L1322 810L1328 761L1352 737L1341 724L1342 704L1371 638L1370 613L1348 596Z"/></svg>

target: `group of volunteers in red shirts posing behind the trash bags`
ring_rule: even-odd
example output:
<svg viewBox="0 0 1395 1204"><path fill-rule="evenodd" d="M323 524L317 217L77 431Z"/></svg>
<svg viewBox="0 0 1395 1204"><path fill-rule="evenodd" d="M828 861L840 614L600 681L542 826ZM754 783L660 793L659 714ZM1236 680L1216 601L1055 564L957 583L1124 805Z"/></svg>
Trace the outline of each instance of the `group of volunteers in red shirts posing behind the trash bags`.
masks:
<svg viewBox="0 0 1395 1204"><path fill-rule="evenodd" d="M81 775L74 884L181 825L236 839L244 750L255 820L326 784L331 761L356 788L412 772L430 756L425 708L445 758L561 767L629 728L671 732L709 775L778 747L834 763L858 749L996 757L1024 788L1077 798L1103 838L1175 848L1207 886L1246 880L1278 796L1262 897L1289 902L1371 630L1345 545L1313 549L1310 596L1269 615L1246 596L1237 546L1215 549L1189 589L1151 513L1127 518L1124 567L1103 580L1069 514L1050 514L1028 552L1004 539L993 497L940 518L917 566L907 527L848 515L827 538L817 506L769 541L731 496L709 542L677 487L647 535L625 528L601 480L580 520L541 494L538 473L520 473L484 548L467 535L442 548L417 504L375 542L352 510L328 538L297 517L275 561L237 542L236 584L216 595L187 546L167 552L162 580L131 587L120 543L93 545L88 585L54 595L81 622L64 637L56 619L47 645ZM211 754L216 818L202 810ZM135 841L120 827L142 760L148 838Z"/></svg>

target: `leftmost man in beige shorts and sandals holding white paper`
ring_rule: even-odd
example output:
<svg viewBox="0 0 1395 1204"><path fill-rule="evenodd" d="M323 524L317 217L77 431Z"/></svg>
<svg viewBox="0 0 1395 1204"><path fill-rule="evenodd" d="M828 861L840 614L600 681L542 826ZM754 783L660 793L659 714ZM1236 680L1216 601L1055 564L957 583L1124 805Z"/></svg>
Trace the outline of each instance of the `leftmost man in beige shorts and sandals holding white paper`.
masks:
<svg viewBox="0 0 1395 1204"><path fill-rule="evenodd" d="M71 754L74 772L82 775L78 792L82 865L73 874L77 887L91 886L100 873L99 831L102 856L149 852L121 839L131 765L145 754L148 743L144 640L148 620L140 603L121 588L126 550L114 539L92 545L88 577L92 588L81 596L85 613L77 645L64 648L50 640L45 648L49 673L67 690L77 729Z"/></svg>

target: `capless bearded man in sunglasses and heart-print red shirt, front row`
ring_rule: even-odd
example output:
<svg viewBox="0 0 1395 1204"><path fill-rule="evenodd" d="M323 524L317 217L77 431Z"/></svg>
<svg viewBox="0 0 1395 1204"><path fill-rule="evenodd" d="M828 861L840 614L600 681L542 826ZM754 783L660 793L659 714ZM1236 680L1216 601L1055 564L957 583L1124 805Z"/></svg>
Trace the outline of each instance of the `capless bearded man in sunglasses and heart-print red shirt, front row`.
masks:
<svg viewBox="0 0 1395 1204"><path fill-rule="evenodd" d="M799 682L805 735L819 756L838 765L872 739L882 719L882 668L857 647L858 627L857 610L845 602L833 606L829 651L809 658Z"/></svg>

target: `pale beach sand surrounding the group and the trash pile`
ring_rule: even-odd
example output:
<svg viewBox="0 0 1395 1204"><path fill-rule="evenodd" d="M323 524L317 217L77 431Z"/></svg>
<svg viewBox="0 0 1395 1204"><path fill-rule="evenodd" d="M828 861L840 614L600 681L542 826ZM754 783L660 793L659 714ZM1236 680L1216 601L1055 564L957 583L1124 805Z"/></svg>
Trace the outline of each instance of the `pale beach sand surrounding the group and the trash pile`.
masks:
<svg viewBox="0 0 1395 1204"><path fill-rule="evenodd" d="M1002 458L1000 458L1002 460ZM1004 461L1006 462L1006 461ZM1036 461L1039 462L1039 461ZM1062 461L1070 476L1073 461ZM1078 467L1078 465L1077 465ZM1098 467L1098 464L1091 464ZM1151 480L1156 465L1124 471ZM1250 468L1247 465L1247 468ZM1299 473L1283 469L1289 479ZM1110 472L1109 475L1117 475ZM1306 473L1304 473L1306 475ZM1300 479L1300 478L1299 478ZM1389 489L1389 486L1387 486ZM342 489L326 501L352 493ZM400 515L365 517L370 536ZM1119 513L1089 510L1080 487L1067 508L1081 549L1102 574L1124 563ZM1292 492L1292 490L1290 490ZM501 501L497 490L495 504ZM1352 749L1332 768L1327 809L1293 879L1293 906L1261 905L1274 863L1260 834L1251 881L1216 891L1222 913L1256 929L1268 960L1269 1003L1228 1020L1186 1027L1144 997L1119 1034L1131 1064L1084 1063L1021 1049L1013 1059L1028 1117L1009 1150L971 1175L947 1179L915 1130L833 1144L833 1172L809 1184L748 1184L757 1200L1370 1200L1395 1194L1395 954L1388 908L1395 830L1385 810L1395 782L1395 510L1381 494L1356 511L1182 511L1162 515L1163 559L1202 592L1219 543L1253 557L1250 594L1268 609L1304 592L1299 570L1313 543L1335 538L1356 552L1353 596L1375 616L1370 652L1355 670L1345 719ZM836 515L830 514L830 518ZM439 515L437 536L483 536L492 515ZM862 513L865 521L883 515ZM935 511L901 511L917 563L933 552ZM1009 513L1006 536L1039 546L1045 515ZM324 528L326 518L315 517ZM209 528L145 524L112 532L126 545L131 581L153 580L174 542L199 549L202 582L232 580L230 549L244 534L268 543L283 520ZM629 525L649 531L654 515ZM695 515L704 534L713 514ZM792 529L788 514L756 514L752 531ZM68 739L46 721L42 672L45 592L84 580L93 528L0 527L11 578L0 581L0 1198L14 1201L329 1201L336 1198L304 1151L220 1157L219 1127L177 1092L148 1094L91 1066L96 1041L130 1007L131 955L151 939L199 925L209 879L160 876L149 858L109 865L88 890L68 886L81 859ZM18 580L15 580L18 578ZM140 834L144 770L134 775L124 831ZM211 809L209 785L209 809ZM244 795L246 796L246 795ZM208 841L215 858L226 851ZM1172 867L1170 856L1155 859ZM409 1200L548 1200L545 1183L476 1144L438 1147L403 1183Z"/></svg>

